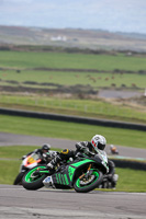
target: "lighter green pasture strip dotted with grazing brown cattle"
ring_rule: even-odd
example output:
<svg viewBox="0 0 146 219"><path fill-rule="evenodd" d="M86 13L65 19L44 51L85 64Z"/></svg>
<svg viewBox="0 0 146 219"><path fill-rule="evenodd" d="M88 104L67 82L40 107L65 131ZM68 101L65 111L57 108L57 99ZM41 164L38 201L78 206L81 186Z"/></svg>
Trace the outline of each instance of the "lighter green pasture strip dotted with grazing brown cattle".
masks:
<svg viewBox="0 0 146 219"><path fill-rule="evenodd" d="M141 73L88 73L88 72L69 72L69 71L26 71L20 73L16 71L5 70L0 71L1 85L25 85L32 88L56 88L59 85L87 85L93 90L99 88L139 88L145 89L146 74ZM18 83L12 83L15 81ZM29 82L35 82L31 84ZM53 85L42 83L54 83Z"/></svg>

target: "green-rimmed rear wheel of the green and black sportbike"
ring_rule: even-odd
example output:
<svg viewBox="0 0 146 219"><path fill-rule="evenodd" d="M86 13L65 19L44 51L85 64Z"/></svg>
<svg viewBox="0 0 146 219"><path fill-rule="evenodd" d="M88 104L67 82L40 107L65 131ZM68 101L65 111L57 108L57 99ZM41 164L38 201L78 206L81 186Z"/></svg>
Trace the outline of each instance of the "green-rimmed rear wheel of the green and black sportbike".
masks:
<svg viewBox="0 0 146 219"><path fill-rule="evenodd" d="M36 191L44 186L43 180L46 177L46 173L35 174L37 170L46 169L46 166L35 166L31 169L22 178L22 185L29 191Z"/></svg>

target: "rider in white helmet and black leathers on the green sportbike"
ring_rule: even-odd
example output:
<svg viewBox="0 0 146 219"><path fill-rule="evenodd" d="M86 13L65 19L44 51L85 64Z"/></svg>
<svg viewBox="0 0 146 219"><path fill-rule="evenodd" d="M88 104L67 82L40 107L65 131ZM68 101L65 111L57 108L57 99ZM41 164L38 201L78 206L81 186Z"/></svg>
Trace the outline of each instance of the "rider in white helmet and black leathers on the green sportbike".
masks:
<svg viewBox="0 0 146 219"><path fill-rule="evenodd" d="M54 170L56 165L61 161L70 160L72 161L77 158L80 152L88 154L89 157L99 153L99 151L104 151L106 145L106 140L101 135L96 135L92 137L91 141L80 141L76 143L76 151L64 149L60 153L55 155L55 158L47 164L49 170ZM112 182L113 187L115 187L116 182L114 182L114 163L112 161L108 161L109 164L109 180Z"/></svg>

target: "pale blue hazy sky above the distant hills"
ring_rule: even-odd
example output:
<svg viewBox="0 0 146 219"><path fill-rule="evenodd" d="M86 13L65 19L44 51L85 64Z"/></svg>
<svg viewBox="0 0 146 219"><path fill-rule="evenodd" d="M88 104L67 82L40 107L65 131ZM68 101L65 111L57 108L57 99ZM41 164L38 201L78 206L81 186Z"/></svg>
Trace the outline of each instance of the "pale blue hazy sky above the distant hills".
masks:
<svg viewBox="0 0 146 219"><path fill-rule="evenodd" d="M0 25L146 34L146 0L0 0Z"/></svg>

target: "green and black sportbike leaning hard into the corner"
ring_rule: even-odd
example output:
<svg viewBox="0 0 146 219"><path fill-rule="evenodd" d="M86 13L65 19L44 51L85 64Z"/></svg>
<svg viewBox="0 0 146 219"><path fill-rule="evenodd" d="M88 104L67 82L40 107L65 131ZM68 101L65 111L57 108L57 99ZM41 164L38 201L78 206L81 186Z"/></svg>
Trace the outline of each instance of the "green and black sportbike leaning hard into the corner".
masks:
<svg viewBox="0 0 146 219"><path fill-rule="evenodd" d="M99 151L92 157L80 153L72 162L61 163L54 171L49 171L45 165L33 168L24 175L22 185L31 191L45 186L74 188L78 193L88 193L101 184L108 171L108 158L104 151Z"/></svg>

